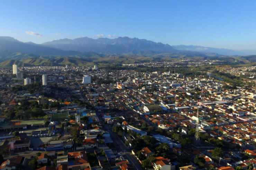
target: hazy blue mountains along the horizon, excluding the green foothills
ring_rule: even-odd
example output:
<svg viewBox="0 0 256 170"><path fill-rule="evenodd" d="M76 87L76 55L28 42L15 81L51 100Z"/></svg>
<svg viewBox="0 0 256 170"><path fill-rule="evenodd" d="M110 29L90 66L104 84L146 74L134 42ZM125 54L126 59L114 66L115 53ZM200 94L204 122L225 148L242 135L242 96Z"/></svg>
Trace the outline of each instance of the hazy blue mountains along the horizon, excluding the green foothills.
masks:
<svg viewBox="0 0 256 170"><path fill-rule="evenodd" d="M246 55L244 52L217 49L194 45L174 45L156 43L145 39L119 37L116 39L82 37L77 39L60 39L43 44L20 42L8 36L0 36L0 57L8 57L12 53L28 53L34 55L81 55L93 52L107 55L155 55L162 53L217 53L220 55Z"/></svg>

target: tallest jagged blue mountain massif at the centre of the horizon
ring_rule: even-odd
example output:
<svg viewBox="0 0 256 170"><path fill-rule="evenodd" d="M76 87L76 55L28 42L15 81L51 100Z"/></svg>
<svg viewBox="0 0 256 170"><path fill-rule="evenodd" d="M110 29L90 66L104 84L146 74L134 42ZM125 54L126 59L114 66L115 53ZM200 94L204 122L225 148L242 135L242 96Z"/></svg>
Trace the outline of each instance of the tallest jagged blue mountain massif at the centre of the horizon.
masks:
<svg viewBox="0 0 256 170"><path fill-rule="evenodd" d="M172 53L179 52L171 45L156 43L145 39L119 37L116 39L99 38L92 39L82 37L77 39L61 39L43 43L48 47L61 50L79 52L96 52L103 54L147 54L147 53Z"/></svg>

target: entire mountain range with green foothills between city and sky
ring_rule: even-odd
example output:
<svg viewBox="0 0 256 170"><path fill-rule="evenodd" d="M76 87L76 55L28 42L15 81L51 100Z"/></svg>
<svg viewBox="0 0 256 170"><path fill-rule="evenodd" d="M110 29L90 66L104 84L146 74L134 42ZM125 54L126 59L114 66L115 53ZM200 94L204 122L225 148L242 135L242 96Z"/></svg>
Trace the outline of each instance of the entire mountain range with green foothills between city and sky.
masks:
<svg viewBox="0 0 256 170"><path fill-rule="evenodd" d="M93 65L123 64L150 61L170 61L176 59L218 59L236 60L243 58L255 62L254 56L242 55L228 49L194 45L174 45L156 43L145 39L119 37L116 39L88 37L61 39L36 44L21 42L8 36L0 36L0 67L37 65ZM232 59L231 59L232 58Z"/></svg>

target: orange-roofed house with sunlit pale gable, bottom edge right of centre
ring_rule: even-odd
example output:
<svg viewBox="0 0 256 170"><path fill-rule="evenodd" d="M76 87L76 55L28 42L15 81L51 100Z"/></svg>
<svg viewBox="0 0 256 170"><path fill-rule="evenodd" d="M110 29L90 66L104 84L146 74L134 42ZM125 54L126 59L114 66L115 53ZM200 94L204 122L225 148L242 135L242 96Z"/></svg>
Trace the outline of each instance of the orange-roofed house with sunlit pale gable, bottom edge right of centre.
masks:
<svg viewBox="0 0 256 170"><path fill-rule="evenodd" d="M163 157L155 157L152 165L154 170L175 170L175 165L172 165L170 160Z"/></svg>

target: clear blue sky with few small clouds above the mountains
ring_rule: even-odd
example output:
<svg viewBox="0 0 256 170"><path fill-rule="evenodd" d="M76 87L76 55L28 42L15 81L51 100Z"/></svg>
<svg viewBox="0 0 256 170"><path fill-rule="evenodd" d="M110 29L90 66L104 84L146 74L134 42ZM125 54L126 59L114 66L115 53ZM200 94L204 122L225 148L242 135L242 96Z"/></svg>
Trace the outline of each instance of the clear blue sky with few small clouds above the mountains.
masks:
<svg viewBox="0 0 256 170"><path fill-rule="evenodd" d="M256 50L255 9L255 0L3 0L0 36L34 43L128 36Z"/></svg>

